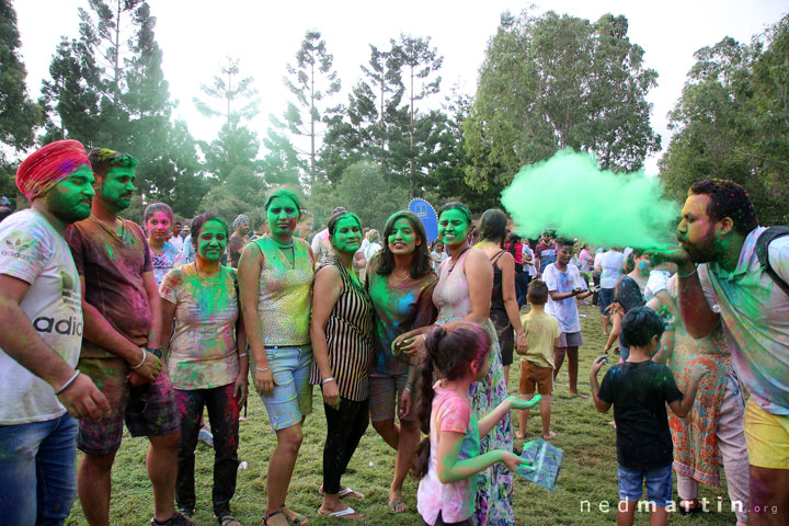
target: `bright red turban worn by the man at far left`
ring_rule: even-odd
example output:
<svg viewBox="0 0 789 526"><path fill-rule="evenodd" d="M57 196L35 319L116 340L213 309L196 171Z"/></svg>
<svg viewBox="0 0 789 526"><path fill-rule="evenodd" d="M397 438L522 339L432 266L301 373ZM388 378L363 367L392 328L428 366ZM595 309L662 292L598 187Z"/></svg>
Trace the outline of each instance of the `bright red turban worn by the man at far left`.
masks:
<svg viewBox="0 0 789 526"><path fill-rule="evenodd" d="M57 140L36 150L16 170L16 187L33 201L87 164L88 152L79 140Z"/></svg>

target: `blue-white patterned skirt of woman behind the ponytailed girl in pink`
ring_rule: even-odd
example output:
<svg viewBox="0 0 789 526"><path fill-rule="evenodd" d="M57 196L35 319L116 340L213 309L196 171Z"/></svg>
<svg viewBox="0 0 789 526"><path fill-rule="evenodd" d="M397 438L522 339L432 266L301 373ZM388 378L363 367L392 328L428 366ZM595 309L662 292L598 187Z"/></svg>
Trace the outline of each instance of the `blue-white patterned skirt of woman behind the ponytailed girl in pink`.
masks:
<svg viewBox="0 0 789 526"><path fill-rule="evenodd" d="M455 319L439 319L448 323ZM471 385L469 397L478 419L493 411L507 397L502 366L499 339L493 323L483 325L491 335L491 367L484 380ZM480 454L494 449L513 450L513 430L510 413L506 414L485 436L480 436ZM476 526L512 526L515 516L512 510L513 473L502 462L490 466L477 476L477 496L473 522Z"/></svg>

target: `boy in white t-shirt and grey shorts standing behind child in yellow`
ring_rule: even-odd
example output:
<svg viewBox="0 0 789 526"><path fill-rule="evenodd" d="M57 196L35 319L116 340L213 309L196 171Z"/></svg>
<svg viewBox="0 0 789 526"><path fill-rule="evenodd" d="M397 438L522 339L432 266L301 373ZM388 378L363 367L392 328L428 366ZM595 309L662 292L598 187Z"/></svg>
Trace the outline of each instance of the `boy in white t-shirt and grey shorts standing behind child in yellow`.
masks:
<svg viewBox="0 0 789 526"><path fill-rule="evenodd" d="M542 272L542 278L548 285L548 305L546 312L559 320L561 335L559 347L553 355L553 378L556 379L561 369L564 356L568 357L568 376L570 379L570 395L587 398L578 392L578 348L583 345L581 334L581 320L579 319L578 301L592 296L587 290L586 283L581 278L578 266L570 264L573 254L573 241L559 237L554 241L557 248L557 261L548 265Z"/></svg>

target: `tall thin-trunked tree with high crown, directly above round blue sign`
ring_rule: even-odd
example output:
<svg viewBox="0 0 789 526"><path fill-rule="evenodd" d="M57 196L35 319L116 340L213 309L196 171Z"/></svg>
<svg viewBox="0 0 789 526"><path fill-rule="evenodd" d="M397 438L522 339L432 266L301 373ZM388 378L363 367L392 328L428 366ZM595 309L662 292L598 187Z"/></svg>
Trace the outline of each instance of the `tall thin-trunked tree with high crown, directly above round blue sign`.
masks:
<svg viewBox="0 0 789 526"><path fill-rule="evenodd" d="M409 195L414 196L415 157L414 135L416 123L414 121L414 102L425 96L438 93L441 77L432 77L444 62L435 47L431 47L430 36L426 38L400 35L400 41L391 41L395 60L405 69L409 93ZM416 81L416 85L414 85Z"/></svg>

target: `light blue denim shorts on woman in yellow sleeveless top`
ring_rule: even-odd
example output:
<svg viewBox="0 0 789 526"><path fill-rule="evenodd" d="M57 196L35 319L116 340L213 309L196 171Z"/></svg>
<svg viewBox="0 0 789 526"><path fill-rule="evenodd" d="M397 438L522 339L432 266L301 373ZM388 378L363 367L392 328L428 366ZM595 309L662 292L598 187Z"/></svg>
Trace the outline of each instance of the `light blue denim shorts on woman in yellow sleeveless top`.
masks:
<svg viewBox="0 0 789 526"><path fill-rule="evenodd" d="M277 382L270 396L261 395L261 400L268 411L268 421L274 431L300 424L301 418L312 412L312 386L309 382L312 346L274 345L265 351L268 366Z"/></svg>

